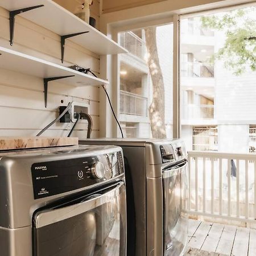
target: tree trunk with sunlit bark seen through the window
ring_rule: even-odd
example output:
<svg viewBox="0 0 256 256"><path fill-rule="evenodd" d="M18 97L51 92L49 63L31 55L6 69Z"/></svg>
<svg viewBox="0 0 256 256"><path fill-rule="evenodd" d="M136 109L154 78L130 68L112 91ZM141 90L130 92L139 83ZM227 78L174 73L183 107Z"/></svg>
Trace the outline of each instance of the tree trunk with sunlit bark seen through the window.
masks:
<svg viewBox="0 0 256 256"><path fill-rule="evenodd" d="M145 36L147 64L153 89L153 98L149 108L151 133L153 138L166 138L166 126L164 124L164 81L156 45L156 27L145 28Z"/></svg>

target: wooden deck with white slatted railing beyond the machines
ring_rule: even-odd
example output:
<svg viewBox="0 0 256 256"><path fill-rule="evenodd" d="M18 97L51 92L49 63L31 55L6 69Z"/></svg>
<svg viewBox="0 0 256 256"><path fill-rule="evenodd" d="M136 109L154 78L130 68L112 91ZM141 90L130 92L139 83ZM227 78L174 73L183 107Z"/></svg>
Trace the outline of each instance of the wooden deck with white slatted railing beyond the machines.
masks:
<svg viewBox="0 0 256 256"><path fill-rule="evenodd" d="M256 155L190 151L188 165L191 253L255 255L256 230L234 225L255 228Z"/></svg>

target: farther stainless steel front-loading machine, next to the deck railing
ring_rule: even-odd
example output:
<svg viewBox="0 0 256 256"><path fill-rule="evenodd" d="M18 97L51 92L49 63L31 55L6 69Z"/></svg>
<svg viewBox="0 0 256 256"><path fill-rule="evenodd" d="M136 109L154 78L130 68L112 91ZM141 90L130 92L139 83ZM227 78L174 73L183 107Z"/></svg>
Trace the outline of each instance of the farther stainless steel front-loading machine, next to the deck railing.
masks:
<svg viewBox="0 0 256 256"><path fill-rule="evenodd" d="M97 139L121 146L127 189L127 255L178 256L188 232L187 152L180 139Z"/></svg>

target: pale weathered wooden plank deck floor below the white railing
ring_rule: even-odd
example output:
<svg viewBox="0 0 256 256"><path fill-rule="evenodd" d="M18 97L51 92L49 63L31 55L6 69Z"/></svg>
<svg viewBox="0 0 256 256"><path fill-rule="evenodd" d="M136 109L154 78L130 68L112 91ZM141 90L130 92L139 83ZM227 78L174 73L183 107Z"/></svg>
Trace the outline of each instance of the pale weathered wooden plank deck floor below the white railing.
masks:
<svg viewBox="0 0 256 256"><path fill-rule="evenodd" d="M256 229L189 220L187 255L256 256Z"/></svg>

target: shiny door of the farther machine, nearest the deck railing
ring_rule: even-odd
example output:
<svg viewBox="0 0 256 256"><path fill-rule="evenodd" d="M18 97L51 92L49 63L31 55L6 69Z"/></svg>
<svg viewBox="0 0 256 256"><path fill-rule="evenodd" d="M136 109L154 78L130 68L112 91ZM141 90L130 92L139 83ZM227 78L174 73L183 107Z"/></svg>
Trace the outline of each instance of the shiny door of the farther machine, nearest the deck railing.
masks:
<svg viewBox="0 0 256 256"><path fill-rule="evenodd" d="M187 242L187 160L163 170L164 256L180 255Z"/></svg>

